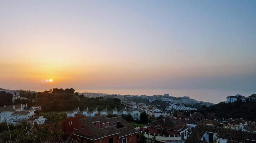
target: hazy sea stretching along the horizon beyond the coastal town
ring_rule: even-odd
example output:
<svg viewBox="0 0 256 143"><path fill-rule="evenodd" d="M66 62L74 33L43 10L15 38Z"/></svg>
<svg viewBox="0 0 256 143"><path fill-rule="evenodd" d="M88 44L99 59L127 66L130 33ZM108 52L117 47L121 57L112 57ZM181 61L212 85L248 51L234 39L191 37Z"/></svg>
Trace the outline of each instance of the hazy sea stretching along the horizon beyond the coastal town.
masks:
<svg viewBox="0 0 256 143"><path fill-rule="evenodd" d="M120 94L120 95L164 95L169 94L169 96L183 97L189 96L192 99L198 101L219 103L225 102L226 96L233 96L236 94L244 95L245 97L252 94L256 94L256 91L239 91L239 90L212 90L212 89L113 89L113 90L78 90L78 92L95 92L104 94Z"/></svg>

